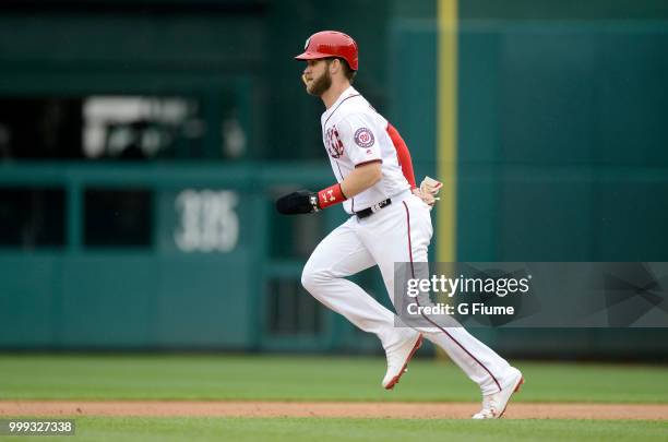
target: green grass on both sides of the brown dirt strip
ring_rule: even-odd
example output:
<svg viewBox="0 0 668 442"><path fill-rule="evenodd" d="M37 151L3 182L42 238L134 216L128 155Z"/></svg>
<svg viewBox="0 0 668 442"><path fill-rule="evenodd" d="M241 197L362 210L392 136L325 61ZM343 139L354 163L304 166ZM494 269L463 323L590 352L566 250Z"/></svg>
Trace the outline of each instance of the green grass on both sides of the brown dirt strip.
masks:
<svg viewBox="0 0 668 442"><path fill-rule="evenodd" d="M668 403L666 367L517 367L527 379L517 402ZM391 393L380 387L383 373L381 358L0 355L0 399L479 401L452 363L417 359ZM631 420L76 417L76 441L668 440L667 421Z"/></svg>

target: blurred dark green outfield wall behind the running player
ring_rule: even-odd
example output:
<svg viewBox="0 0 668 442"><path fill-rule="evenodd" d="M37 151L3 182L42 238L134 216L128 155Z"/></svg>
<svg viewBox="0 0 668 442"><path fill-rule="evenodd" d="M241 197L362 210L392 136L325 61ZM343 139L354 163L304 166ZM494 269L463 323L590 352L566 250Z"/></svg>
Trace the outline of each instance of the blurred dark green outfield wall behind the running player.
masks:
<svg viewBox="0 0 668 442"><path fill-rule="evenodd" d="M43 133L47 111L8 109L92 96L177 97L196 124L144 160L0 148L0 348L378 351L300 288L342 211L272 206L332 180L293 60L321 28L355 36L356 86L448 184L432 259L668 261L668 8L503 3L8 3L0 124ZM387 303L379 279L358 277ZM668 349L664 330L529 332L475 331L534 357Z"/></svg>

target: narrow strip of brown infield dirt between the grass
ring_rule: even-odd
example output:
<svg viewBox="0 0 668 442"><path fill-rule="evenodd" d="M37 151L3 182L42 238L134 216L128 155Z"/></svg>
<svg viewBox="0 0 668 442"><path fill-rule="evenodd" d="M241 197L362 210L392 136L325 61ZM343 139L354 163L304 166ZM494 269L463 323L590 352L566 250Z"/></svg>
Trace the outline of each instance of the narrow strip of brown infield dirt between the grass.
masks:
<svg viewBox="0 0 668 442"><path fill-rule="evenodd" d="M219 416L468 419L473 403L2 401L0 416ZM668 420L666 404L511 404L508 419Z"/></svg>

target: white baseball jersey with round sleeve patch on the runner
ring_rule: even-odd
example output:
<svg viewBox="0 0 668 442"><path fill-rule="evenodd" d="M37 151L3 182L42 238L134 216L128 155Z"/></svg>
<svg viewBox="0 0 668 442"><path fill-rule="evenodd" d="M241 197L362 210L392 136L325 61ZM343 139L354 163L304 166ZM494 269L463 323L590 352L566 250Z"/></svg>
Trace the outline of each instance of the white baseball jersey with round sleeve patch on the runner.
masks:
<svg viewBox="0 0 668 442"><path fill-rule="evenodd" d="M321 117L322 142L332 170L342 182L356 166L381 162L379 182L344 202L354 214L410 189L396 148L387 134L387 120L375 111L353 86L348 87Z"/></svg>

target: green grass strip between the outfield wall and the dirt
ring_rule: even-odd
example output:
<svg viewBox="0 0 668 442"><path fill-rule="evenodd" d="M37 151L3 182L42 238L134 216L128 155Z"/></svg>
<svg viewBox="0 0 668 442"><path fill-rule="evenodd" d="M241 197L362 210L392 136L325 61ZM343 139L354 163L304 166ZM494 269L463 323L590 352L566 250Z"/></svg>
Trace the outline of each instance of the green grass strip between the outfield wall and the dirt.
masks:
<svg viewBox="0 0 668 442"><path fill-rule="evenodd" d="M668 368L516 363L525 402L668 403ZM477 402L446 361L416 359L383 391L382 358L301 356L1 356L0 399Z"/></svg>

